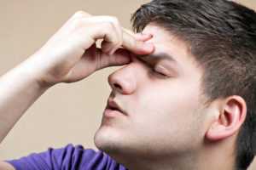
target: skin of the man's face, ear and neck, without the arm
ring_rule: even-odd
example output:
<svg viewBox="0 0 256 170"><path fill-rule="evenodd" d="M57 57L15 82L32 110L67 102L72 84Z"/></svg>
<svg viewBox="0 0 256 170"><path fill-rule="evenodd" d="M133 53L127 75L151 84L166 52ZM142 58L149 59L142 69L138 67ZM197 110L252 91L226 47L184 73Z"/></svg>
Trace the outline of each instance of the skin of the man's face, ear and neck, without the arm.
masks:
<svg viewBox="0 0 256 170"><path fill-rule="evenodd" d="M108 77L109 98L127 116L103 116L96 146L133 170L233 169L244 100L231 96L204 105L203 70L188 45L153 24L143 33L153 35L154 55L176 61L133 55Z"/></svg>

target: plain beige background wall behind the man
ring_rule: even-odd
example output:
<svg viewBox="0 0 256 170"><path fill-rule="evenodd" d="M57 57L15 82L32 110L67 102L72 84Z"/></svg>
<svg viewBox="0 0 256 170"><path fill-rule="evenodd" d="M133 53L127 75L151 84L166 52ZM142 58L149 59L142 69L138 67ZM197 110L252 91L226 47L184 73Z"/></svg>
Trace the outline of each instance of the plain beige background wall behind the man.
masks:
<svg viewBox="0 0 256 170"><path fill-rule="evenodd" d="M0 5L0 73L33 54L77 10L117 16L130 27L131 14L144 0L9 0ZM254 0L241 0L256 8ZM0 147L0 158L66 144L95 148L93 136L101 122L110 88L107 77L116 68L98 71L84 81L59 84L44 94L20 119ZM14 105L15 107L15 105ZM256 168L256 162L254 167Z"/></svg>

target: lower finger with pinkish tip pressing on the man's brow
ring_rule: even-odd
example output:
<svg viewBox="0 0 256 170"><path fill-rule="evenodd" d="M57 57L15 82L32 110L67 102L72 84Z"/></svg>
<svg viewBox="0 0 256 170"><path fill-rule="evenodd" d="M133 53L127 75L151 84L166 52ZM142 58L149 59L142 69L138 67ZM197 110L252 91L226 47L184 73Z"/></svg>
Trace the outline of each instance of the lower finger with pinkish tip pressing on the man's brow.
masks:
<svg viewBox="0 0 256 170"><path fill-rule="evenodd" d="M138 41L126 31L123 31L122 46L134 54L150 54L154 51L154 45L152 43Z"/></svg>

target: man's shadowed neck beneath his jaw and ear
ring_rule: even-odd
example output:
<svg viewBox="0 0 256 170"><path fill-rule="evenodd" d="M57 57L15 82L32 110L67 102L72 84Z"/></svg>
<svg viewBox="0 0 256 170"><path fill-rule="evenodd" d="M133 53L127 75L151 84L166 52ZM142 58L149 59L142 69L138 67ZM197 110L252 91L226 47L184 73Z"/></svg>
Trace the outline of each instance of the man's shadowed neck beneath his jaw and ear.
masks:
<svg viewBox="0 0 256 170"><path fill-rule="evenodd" d="M199 153L179 156L139 156L125 153L111 155L114 160L131 170L234 170L235 140L225 139L218 144L205 144ZM121 155L121 156L120 156Z"/></svg>

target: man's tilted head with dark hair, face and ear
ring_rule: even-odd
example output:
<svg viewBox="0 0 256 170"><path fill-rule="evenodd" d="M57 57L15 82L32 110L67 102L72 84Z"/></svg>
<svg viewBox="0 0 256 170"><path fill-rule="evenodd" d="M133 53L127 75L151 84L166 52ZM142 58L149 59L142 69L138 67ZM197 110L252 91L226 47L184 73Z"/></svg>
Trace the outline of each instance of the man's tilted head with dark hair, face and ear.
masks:
<svg viewBox="0 0 256 170"><path fill-rule="evenodd" d="M132 20L154 36L154 54L132 55L109 77L111 98L128 116L103 116L96 146L166 167L207 161L207 150L219 148L211 154L226 152L246 168L256 128L256 14L224 0L154 0Z"/></svg>

